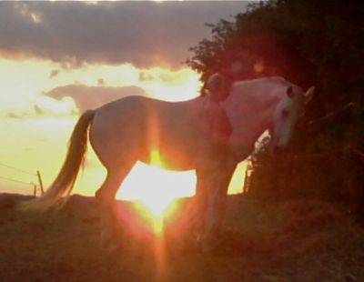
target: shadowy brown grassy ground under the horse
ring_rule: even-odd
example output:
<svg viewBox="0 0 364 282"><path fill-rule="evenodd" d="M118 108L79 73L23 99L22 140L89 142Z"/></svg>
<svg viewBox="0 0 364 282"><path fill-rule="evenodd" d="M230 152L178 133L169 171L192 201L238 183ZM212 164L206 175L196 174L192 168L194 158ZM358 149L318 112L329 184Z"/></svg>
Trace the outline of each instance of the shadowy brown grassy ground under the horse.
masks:
<svg viewBox="0 0 364 282"><path fill-rule="evenodd" d="M364 280L364 228L336 204L229 196L220 245L201 254L156 239L135 207L121 203L129 234L125 249L110 254L100 246L93 198L72 196L47 213L19 211L20 200L0 195L0 281Z"/></svg>

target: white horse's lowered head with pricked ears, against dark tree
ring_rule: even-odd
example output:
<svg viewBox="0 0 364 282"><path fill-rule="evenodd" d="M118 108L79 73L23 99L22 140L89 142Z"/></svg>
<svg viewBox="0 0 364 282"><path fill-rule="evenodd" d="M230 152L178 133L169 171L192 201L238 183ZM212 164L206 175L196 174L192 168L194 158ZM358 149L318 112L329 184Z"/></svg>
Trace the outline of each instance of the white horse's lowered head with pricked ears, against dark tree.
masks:
<svg viewBox="0 0 364 282"><path fill-rule="evenodd" d="M273 115L273 148L281 151L286 146L299 117L305 113L305 106L312 98L315 87L304 93L297 86L288 86L286 95L280 100Z"/></svg>

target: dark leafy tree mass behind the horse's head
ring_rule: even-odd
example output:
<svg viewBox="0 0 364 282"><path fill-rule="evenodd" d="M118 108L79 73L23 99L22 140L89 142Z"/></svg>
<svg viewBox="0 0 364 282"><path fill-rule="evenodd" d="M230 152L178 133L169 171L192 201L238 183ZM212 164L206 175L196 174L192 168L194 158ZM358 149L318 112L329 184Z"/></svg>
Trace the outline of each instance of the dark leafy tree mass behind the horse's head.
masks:
<svg viewBox="0 0 364 282"><path fill-rule="evenodd" d="M218 71L317 87L288 154L270 156L266 140L251 157L251 193L343 199L364 210L363 15L364 1L269 1L208 24L212 38L191 48L187 65L202 81Z"/></svg>

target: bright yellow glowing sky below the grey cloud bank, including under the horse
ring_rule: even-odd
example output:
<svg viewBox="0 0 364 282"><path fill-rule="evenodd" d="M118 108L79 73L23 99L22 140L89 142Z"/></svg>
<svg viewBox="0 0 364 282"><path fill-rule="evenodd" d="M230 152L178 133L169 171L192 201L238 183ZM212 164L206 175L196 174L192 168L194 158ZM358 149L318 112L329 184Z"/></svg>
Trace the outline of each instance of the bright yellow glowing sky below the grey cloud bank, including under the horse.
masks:
<svg viewBox="0 0 364 282"><path fill-rule="evenodd" d="M59 69L57 76L50 76L55 69ZM47 94L57 86L73 85L75 81L85 86L98 86L100 79L103 87L118 87L122 91L123 87L132 84L143 89L147 96L170 101L193 98L200 87L197 74L187 68L176 71L161 67L139 69L126 64L87 65L82 69L65 70L43 60L0 59L0 163L28 172L40 170L45 186L50 185L62 165L79 109L72 97L57 100ZM107 98L96 102L106 103ZM86 167L78 178L75 193L94 195L105 175L105 169L89 149ZM5 166L0 166L0 176L37 183L35 176ZM242 181L241 166L230 192L240 191ZM117 196L145 200L153 195L191 196L195 182L194 172L167 172L138 163ZM0 178L0 191L31 194L32 186Z"/></svg>

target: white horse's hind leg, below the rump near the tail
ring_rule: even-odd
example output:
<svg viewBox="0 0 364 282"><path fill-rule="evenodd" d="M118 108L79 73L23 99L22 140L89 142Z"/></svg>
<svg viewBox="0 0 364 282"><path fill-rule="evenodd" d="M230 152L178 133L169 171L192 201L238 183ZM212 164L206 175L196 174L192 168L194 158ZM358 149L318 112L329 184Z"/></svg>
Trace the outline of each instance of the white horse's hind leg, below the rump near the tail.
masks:
<svg viewBox="0 0 364 282"><path fill-rule="evenodd" d="M123 166L118 169L108 170L103 185L96 191L96 200L100 207L101 244L109 251L117 246L115 243L116 218L115 196L116 192L129 173L132 166Z"/></svg>

